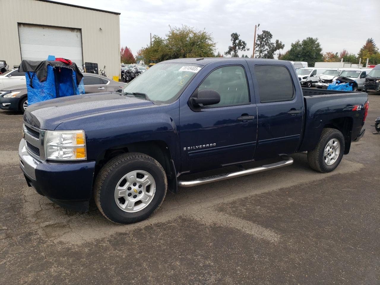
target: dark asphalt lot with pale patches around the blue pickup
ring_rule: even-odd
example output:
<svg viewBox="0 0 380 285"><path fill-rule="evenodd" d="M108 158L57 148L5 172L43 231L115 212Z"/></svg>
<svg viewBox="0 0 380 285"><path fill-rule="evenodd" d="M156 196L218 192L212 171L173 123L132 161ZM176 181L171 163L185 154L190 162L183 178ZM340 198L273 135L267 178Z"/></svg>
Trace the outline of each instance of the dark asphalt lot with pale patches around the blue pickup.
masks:
<svg viewBox="0 0 380 285"><path fill-rule="evenodd" d="M22 115L0 111L0 284L380 284L380 95L364 138L321 174L294 164L168 193L133 225L27 184Z"/></svg>

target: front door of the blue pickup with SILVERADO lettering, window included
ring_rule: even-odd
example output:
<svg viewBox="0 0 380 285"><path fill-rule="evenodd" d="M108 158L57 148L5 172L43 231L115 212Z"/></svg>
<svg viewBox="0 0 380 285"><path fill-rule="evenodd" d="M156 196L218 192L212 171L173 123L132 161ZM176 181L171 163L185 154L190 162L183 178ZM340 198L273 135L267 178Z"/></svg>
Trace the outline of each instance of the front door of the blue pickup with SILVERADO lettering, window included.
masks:
<svg viewBox="0 0 380 285"><path fill-rule="evenodd" d="M241 61L240 61L241 63ZM195 173L253 159L257 135L257 109L251 101L247 64L215 68L193 93L212 89L220 103L194 110L180 98L182 173ZM252 87L251 87L252 88ZM253 91L252 91L253 94ZM253 95L252 95L253 97Z"/></svg>

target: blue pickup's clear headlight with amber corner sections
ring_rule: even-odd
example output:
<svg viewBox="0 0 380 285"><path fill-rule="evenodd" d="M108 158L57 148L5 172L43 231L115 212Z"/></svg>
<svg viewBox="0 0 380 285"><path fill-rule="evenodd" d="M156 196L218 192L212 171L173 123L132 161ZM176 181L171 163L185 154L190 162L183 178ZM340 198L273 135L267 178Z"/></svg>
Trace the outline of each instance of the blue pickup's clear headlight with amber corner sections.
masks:
<svg viewBox="0 0 380 285"><path fill-rule="evenodd" d="M86 160L86 137L83 130L45 131L46 159Z"/></svg>

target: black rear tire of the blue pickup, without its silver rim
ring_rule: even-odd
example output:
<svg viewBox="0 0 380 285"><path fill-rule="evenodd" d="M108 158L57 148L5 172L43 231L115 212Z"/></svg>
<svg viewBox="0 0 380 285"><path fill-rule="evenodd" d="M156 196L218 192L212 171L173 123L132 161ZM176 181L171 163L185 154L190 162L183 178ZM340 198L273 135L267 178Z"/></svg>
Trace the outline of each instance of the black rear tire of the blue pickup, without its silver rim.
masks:
<svg viewBox="0 0 380 285"><path fill-rule="evenodd" d="M324 151L328 142L334 138L337 139L340 143L340 152L336 161L332 165L327 165L324 159ZM333 128L324 128L317 147L307 152L307 161L309 162L310 167L316 171L319 171L321 173L331 172L337 168L340 161L342 160L344 147L344 136L339 130Z"/></svg>

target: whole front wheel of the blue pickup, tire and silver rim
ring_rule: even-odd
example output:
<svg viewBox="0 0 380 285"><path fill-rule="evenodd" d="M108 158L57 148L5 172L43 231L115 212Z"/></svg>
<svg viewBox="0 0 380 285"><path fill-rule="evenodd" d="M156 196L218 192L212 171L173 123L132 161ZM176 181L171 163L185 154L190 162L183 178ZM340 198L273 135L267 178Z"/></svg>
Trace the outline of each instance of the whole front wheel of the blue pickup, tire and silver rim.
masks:
<svg viewBox="0 0 380 285"><path fill-rule="evenodd" d="M163 202L166 174L157 160L138 152L119 155L99 171L94 199L99 211L114 223L145 220Z"/></svg>

